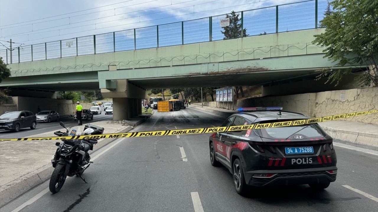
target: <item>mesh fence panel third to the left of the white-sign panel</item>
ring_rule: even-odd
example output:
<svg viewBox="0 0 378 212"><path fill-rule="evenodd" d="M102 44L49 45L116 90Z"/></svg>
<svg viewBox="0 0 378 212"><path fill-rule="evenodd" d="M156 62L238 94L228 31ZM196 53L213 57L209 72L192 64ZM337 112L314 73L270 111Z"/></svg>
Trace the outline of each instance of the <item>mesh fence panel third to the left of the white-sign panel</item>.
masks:
<svg viewBox="0 0 378 212"><path fill-rule="evenodd" d="M158 47L158 34L156 26L135 29L136 49Z"/></svg>

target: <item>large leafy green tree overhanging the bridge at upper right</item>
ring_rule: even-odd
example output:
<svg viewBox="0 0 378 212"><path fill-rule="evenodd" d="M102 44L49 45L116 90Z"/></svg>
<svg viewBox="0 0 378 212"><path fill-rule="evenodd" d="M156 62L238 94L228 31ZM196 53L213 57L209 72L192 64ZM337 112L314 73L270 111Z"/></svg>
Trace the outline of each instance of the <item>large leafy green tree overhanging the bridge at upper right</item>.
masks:
<svg viewBox="0 0 378 212"><path fill-rule="evenodd" d="M364 71L356 79L361 86L378 85L378 1L334 0L333 11L321 20L325 32L314 35L313 44L325 46L325 58L336 66L354 66L355 71ZM362 68L361 68L362 66ZM327 83L337 86L352 69L319 69L318 79L328 77Z"/></svg>

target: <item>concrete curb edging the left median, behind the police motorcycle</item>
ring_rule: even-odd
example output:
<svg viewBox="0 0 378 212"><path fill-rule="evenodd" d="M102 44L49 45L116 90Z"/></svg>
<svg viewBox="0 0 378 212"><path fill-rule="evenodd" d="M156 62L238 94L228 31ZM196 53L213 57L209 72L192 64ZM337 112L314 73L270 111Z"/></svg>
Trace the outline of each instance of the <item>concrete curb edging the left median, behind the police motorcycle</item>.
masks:
<svg viewBox="0 0 378 212"><path fill-rule="evenodd" d="M144 121L146 121L149 117L146 117L138 122L135 123L135 126L138 126L139 124L142 124ZM134 126L134 127L135 127ZM121 132L129 132L134 127L132 126L126 126L125 128L116 131L115 133L121 133ZM96 145L94 150L91 152L98 151L102 147L106 146L107 144L115 141L118 138L112 138L112 139L104 139L106 140L104 143L99 143ZM48 180L51 176L51 173L53 172L54 168L51 166L51 164L46 164L39 169L30 172L20 178L17 178L16 180L19 181L15 184L11 184L13 180L3 186L0 187L0 208L11 202L12 200L20 197L21 195L25 194L29 190L33 189L34 187L39 186L40 184L44 183L46 180Z"/></svg>

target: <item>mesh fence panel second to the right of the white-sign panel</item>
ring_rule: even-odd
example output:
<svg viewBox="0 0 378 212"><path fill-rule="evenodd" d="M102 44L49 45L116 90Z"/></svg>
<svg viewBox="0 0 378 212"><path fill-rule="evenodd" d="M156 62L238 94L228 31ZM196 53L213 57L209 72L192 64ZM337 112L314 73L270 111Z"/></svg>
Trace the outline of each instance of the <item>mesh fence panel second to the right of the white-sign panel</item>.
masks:
<svg viewBox="0 0 378 212"><path fill-rule="evenodd" d="M315 1L278 6L278 32L315 28Z"/></svg>

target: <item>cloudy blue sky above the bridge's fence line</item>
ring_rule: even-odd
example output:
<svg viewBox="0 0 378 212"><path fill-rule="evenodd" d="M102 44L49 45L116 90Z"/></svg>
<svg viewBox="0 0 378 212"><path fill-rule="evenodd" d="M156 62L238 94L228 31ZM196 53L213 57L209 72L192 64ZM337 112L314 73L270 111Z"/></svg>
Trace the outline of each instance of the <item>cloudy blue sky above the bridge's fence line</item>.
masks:
<svg viewBox="0 0 378 212"><path fill-rule="evenodd" d="M29 45L291 2L299 1L0 0L0 40Z"/></svg>

